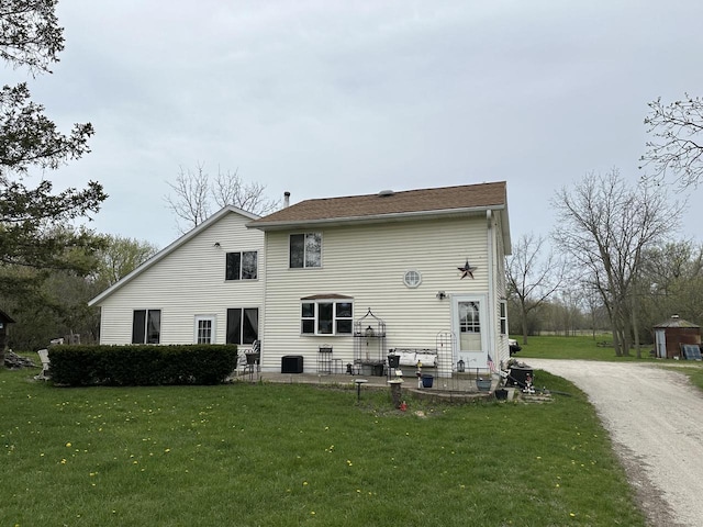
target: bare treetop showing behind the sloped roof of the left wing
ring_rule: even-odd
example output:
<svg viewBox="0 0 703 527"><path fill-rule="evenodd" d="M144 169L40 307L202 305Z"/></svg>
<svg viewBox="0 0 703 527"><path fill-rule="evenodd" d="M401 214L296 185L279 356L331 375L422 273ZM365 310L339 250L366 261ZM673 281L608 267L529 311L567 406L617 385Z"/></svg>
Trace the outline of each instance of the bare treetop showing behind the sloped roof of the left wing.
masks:
<svg viewBox="0 0 703 527"><path fill-rule="evenodd" d="M234 205L253 214L264 215L280 206L280 200L266 197L266 186L245 182L238 170L223 172L217 170L214 180L205 171L204 164L198 164L196 170L180 167L176 180L167 181L172 193L164 197L166 205L176 215L176 227L183 234L204 222L217 209Z"/></svg>

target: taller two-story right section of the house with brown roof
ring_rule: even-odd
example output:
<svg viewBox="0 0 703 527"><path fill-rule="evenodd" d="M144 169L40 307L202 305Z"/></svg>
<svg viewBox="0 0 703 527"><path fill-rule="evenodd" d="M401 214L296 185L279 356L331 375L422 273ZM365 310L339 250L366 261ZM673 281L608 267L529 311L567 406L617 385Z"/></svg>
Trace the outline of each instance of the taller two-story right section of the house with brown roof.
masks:
<svg viewBox="0 0 703 527"><path fill-rule="evenodd" d="M503 182L381 192L303 201L252 222L266 233L263 368L300 356L314 372L327 347L342 365L362 359L368 343L347 315L369 310L386 325L381 359L437 349L449 335L453 365L506 360L505 195Z"/></svg>

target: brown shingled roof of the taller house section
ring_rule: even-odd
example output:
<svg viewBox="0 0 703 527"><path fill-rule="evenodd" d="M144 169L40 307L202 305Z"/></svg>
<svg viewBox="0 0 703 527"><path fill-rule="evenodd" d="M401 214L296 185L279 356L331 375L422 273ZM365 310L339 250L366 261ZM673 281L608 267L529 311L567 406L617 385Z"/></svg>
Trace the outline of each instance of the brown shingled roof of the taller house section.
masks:
<svg viewBox="0 0 703 527"><path fill-rule="evenodd" d="M266 229L341 220L369 221L378 218L382 221L393 216L504 209L505 205L505 182L500 181L305 200L250 222L249 226Z"/></svg>

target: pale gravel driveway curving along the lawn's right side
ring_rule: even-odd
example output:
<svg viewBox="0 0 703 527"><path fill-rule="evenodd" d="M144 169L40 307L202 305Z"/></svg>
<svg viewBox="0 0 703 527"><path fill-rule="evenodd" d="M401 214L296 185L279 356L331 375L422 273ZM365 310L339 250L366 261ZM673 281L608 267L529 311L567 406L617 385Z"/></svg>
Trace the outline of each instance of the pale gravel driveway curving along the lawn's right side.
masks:
<svg viewBox="0 0 703 527"><path fill-rule="evenodd" d="M632 362L523 360L588 394L649 525L703 525L703 396L685 375Z"/></svg>

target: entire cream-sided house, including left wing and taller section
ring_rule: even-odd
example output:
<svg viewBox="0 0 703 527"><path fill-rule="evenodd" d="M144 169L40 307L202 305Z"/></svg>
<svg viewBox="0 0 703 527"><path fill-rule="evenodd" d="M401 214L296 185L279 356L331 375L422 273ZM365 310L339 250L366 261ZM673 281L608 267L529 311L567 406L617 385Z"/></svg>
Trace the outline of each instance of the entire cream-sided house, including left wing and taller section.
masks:
<svg viewBox="0 0 703 527"><path fill-rule="evenodd" d="M263 371L288 357L316 372L321 348L344 371L368 355L371 314L376 359L442 348L448 372L486 369L509 358L510 247L504 182L225 208L90 304L101 344L259 339Z"/></svg>

